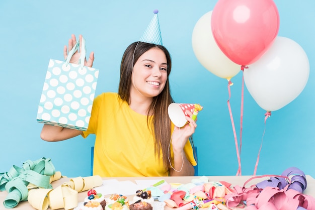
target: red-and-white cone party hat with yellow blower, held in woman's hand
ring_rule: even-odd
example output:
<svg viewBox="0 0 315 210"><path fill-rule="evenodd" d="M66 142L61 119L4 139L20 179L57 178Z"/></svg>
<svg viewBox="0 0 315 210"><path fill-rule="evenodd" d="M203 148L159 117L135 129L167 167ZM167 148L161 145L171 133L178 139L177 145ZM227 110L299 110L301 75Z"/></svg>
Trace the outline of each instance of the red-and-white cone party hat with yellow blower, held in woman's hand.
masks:
<svg viewBox="0 0 315 210"><path fill-rule="evenodd" d="M200 104L193 103L171 103L168 108L168 113L173 124L179 128L185 126L187 123L185 114L186 110L193 113L192 119L196 120L199 111L201 111L203 107Z"/></svg>

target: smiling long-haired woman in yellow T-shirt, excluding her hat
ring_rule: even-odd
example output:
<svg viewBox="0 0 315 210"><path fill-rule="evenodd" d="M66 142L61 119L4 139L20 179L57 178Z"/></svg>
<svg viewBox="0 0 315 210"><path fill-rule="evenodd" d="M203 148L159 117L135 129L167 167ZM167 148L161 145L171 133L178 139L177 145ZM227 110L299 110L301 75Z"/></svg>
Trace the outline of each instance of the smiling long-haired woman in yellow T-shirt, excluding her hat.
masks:
<svg viewBox="0 0 315 210"><path fill-rule="evenodd" d="M80 35L80 42L82 36ZM75 36L68 43L71 50ZM64 47L67 57L67 47ZM71 58L77 63L79 52ZM92 67L94 53L85 65ZM100 176L192 176L196 161L189 138L195 132L192 113L188 124L175 127L168 117L173 102L169 74L171 57L162 45L135 42L123 54L118 93L98 95L87 131L44 125L41 138L62 141L95 134L94 174Z"/></svg>

